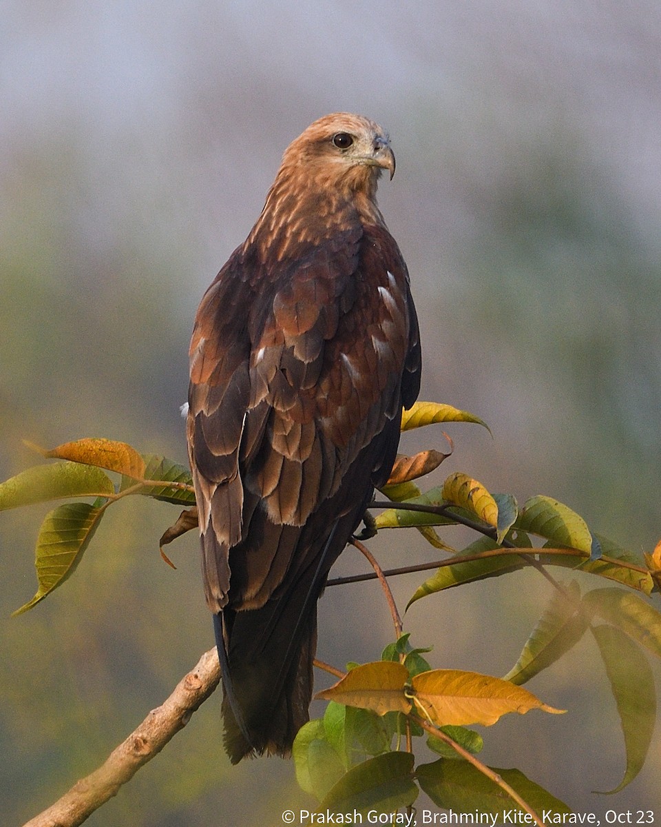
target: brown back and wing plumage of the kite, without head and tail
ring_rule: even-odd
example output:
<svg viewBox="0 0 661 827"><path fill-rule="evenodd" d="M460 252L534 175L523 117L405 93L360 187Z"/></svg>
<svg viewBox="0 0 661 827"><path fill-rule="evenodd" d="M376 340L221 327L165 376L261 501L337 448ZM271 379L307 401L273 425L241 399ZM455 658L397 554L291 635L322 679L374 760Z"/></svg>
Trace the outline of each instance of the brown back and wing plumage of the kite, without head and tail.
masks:
<svg viewBox="0 0 661 827"><path fill-rule="evenodd" d="M235 251L202 301L191 345L191 456L211 504L201 525L214 610L269 599L304 553L302 526L371 442L373 482L383 482L398 429L377 437L419 371L407 362L417 329L406 266L385 229L352 227L293 264L256 266ZM250 576L238 573L241 555Z"/></svg>

